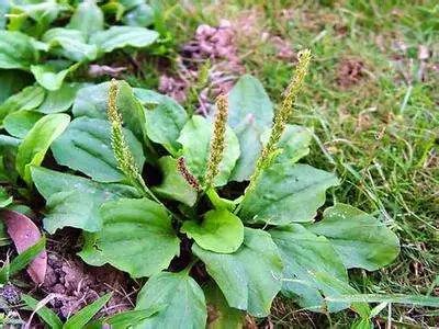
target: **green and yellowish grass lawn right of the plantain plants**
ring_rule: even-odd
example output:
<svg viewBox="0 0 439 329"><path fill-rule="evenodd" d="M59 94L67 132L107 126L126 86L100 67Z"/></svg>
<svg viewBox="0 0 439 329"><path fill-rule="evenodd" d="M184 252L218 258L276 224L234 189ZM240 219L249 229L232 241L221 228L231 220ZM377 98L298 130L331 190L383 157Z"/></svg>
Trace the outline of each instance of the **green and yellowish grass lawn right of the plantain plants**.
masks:
<svg viewBox="0 0 439 329"><path fill-rule="evenodd" d="M315 132L316 143L305 161L336 171L342 184L333 191L333 198L381 217L402 240L394 265L373 274L351 273L362 293L439 296L439 71L434 67L439 66L435 44L439 5L435 2L235 0L165 5L177 45L190 39L199 24L215 25L224 18L236 24L252 20L250 29L238 34L241 60L274 101L281 99L279 91L288 84L293 64L278 59L277 49L260 35L278 35L295 52L312 49L312 71L292 117ZM419 47L429 50L425 63L418 58ZM363 69L356 83L342 88L338 82L348 59L361 61ZM419 78L423 66L425 79ZM139 83L151 84L146 80ZM273 311L271 320L279 326L318 326L282 300ZM349 314L318 319L344 327ZM435 326L439 315L390 306L380 320Z"/></svg>

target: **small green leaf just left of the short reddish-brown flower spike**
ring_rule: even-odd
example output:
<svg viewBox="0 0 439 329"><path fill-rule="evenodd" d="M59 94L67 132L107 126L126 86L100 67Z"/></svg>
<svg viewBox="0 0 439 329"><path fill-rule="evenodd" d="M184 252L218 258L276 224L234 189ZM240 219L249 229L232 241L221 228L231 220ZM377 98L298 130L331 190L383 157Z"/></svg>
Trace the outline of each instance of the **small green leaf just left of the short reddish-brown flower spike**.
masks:
<svg viewBox="0 0 439 329"><path fill-rule="evenodd" d="M164 180L157 186L153 186L153 192L158 195L177 200L188 206L193 206L196 202L198 193L181 175L177 169L177 160L172 157L162 157L158 160Z"/></svg>

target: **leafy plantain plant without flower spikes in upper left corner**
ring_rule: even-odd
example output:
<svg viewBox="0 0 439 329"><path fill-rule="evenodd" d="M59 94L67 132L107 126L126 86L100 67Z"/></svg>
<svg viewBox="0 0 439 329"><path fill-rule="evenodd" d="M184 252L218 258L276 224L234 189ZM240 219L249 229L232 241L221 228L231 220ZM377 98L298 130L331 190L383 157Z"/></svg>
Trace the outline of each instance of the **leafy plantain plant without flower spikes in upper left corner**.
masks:
<svg viewBox="0 0 439 329"><path fill-rule="evenodd" d="M12 135L20 134L14 126L23 121L68 110L81 81L90 80L89 64L115 50L157 53L170 39L166 31L147 29L162 19L147 1L97 2L0 3L0 125Z"/></svg>

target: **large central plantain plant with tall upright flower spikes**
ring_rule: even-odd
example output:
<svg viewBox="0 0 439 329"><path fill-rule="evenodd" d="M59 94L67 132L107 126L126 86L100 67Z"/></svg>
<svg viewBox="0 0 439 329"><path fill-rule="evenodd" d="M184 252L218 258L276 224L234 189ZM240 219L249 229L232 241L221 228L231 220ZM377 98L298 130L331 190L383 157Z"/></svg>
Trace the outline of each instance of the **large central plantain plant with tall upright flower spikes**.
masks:
<svg viewBox="0 0 439 329"><path fill-rule="evenodd" d="M204 328L209 309L211 326L239 328L279 294L313 311L350 308L371 326L369 305L346 299L359 294L348 270L387 265L399 242L350 205L320 209L339 180L299 163L312 133L289 124L309 61L301 53L275 112L251 76L218 97L213 117L112 80L79 90L71 122L43 117L63 129L38 121L11 141L18 175L46 200L45 230L79 228L85 262L148 279L131 326ZM52 169L41 167L48 147Z"/></svg>

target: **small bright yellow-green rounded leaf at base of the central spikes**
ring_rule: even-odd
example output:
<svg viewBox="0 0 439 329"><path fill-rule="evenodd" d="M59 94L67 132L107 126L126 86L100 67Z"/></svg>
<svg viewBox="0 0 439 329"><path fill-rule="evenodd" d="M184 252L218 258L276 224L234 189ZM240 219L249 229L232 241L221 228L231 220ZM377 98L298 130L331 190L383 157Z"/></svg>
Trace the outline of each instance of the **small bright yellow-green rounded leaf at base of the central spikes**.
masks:
<svg viewBox="0 0 439 329"><path fill-rule="evenodd" d="M201 224L187 220L181 231L201 248L222 253L235 252L244 240L243 223L226 209L207 212Z"/></svg>

